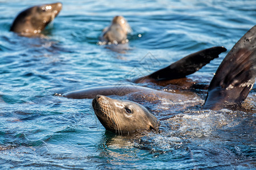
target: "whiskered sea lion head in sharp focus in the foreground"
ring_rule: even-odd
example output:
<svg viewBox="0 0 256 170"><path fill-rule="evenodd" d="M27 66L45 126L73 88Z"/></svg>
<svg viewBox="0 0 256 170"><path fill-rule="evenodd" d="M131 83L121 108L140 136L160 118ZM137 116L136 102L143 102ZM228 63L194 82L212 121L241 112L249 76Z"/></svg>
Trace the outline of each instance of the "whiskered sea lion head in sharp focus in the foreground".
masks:
<svg viewBox="0 0 256 170"><path fill-rule="evenodd" d="M106 130L118 134L132 134L157 130L159 122L142 105L129 100L116 100L97 95L92 106Z"/></svg>

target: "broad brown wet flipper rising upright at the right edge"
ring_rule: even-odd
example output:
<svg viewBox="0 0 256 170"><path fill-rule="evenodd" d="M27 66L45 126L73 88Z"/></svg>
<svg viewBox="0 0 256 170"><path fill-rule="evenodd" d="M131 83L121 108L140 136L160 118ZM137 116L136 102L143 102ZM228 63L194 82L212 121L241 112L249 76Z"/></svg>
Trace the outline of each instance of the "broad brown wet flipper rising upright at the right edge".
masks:
<svg viewBox="0 0 256 170"><path fill-rule="evenodd" d="M204 109L219 110L240 105L256 76L256 25L230 50L208 88Z"/></svg>

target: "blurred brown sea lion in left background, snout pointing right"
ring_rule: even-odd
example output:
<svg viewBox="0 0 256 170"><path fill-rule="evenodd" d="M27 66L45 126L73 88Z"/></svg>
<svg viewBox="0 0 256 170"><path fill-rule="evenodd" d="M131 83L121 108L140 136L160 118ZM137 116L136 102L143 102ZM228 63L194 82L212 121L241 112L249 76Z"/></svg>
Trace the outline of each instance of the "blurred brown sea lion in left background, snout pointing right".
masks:
<svg viewBox="0 0 256 170"><path fill-rule="evenodd" d="M22 36L39 35L59 14L61 8L60 2L27 8L16 16L10 31Z"/></svg>

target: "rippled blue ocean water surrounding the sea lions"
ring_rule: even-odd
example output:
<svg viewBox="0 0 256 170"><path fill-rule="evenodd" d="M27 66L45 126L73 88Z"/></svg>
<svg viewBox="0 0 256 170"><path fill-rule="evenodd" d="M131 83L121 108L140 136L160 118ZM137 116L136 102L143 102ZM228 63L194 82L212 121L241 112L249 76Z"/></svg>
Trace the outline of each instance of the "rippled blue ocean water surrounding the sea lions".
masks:
<svg viewBox="0 0 256 170"><path fill-rule="evenodd" d="M44 1L43 3L52 3ZM0 1L1 169L255 169L256 89L244 111L204 111L205 92L175 105L141 101L162 133L118 136L98 122L92 99L53 96L131 84L193 52L228 51L256 23L256 1L62 1L45 38L10 32L18 12L42 1ZM123 15L128 49L97 45ZM209 84L228 52L189 78ZM154 84L140 84L161 89ZM122 98L122 97L121 97Z"/></svg>

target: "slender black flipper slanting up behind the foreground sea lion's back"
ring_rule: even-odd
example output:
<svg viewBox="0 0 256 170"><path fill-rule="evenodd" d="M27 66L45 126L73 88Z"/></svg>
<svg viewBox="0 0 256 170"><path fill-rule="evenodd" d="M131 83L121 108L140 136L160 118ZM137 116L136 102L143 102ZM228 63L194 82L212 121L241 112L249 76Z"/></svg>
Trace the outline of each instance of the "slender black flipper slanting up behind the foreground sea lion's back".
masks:
<svg viewBox="0 0 256 170"><path fill-rule="evenodd" d="M201 67L207 65L207 63L209 63L212 59L218 58L218 55L225 51L226 48L223 46L215 46L213 48L201 50L181 58L179 61L176 61L170 66L158 70L155 73L144 76L142 78L138 78L135 80L135 83L184 78L185 76L195 73L201 69Z"/></svg>

